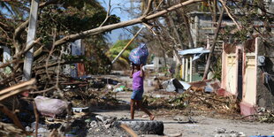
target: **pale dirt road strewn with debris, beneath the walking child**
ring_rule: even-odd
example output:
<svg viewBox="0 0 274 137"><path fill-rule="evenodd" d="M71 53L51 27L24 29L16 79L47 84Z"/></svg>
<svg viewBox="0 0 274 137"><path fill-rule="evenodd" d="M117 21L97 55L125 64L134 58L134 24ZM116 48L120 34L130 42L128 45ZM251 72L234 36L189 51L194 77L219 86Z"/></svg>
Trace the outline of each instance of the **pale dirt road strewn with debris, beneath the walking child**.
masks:
<svg viewBox="0 0 274 137"><path fill-rule="evenodd" d="M128 77L120 77L122 82L127 85L131 84ZM148 81L145 81L145 94L154 94L153 87L148 87ZM119 92L117 98L129 103L131 92ZM163 96L163 95L162 95ZM104 116L115 116L118 118L130 118L129 104L126 107L116 110L92 110L96 114ZM274 135L274 124L266 124L260 122L250 122L244 119L235 118L218 118L214 116L214 112L209 112L207 116L191 117L196 123L189 123L189 116L180 113L179 110L151 110L156 114L156 120L164 122L164 134L182 133L184 137L199 137L199 136L251 136L251 135ZM135 113L136 119L148 119L144 112L137 110ZM176 120L175 120L176 119ZM151 135L148 135L151 136ZM156 135L154 135L156 136Z"/></svg>

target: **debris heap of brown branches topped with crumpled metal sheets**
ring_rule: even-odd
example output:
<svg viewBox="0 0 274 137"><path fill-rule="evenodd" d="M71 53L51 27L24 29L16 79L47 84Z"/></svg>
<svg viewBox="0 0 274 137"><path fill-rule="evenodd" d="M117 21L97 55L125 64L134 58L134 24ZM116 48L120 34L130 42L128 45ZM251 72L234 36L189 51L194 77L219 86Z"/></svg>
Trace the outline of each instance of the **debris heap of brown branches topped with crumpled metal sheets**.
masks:
<svg viewBox="0 0 274 137"><path fill-rule="evenodd" d="M220 114L240 114L239 100L234 95L220 95L218 80L186 83L181 80L164 80L162 86L169 97L145 95L143 103L151 108L187 109L199 111L214 110Z"/></svg>

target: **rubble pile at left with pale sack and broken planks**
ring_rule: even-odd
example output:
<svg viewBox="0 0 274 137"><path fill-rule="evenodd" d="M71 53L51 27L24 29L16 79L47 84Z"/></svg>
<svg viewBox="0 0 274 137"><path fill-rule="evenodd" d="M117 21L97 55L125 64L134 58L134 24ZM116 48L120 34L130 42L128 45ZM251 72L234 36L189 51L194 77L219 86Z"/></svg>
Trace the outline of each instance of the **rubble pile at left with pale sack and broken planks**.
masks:
<svg viewBox="0 0 274 137"><path fill-rule="evenodd" d="M49 133L53 136L54 134L64 135L74 131L74 129L69 130L68 128L77 121L79 123L78 118L89 114L89 106L116 106L118 104L112 89L105 88L106 85L115 87L118 85L117 80L103 78L62 79L64 81L60 81L59 89L54 87L39 91L42 89L41 87L46 88L43 84L47 81L29 80L1 90L0 135L26 136L35 135L35 133L41 136L49 136ZM49 83L50 81L48 81ZM22 95L21 93L24 92L29 95ZM86 112L83 112L85 110ZM80 112L81 115L77 112ZM85 128L88 129L88 126Z"/></svg>

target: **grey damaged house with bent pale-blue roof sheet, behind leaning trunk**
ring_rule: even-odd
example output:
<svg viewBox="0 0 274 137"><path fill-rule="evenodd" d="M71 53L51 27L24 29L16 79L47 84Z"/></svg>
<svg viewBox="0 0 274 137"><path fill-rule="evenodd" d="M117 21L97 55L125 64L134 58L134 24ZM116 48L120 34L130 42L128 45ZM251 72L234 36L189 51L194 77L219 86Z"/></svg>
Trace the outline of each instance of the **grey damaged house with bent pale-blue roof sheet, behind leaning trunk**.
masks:
<svg viewBox="0 0 274 137"><path fill-rule="evenodd" d="M188 16L192 20L190 33L194 41L194 47L191 47L191 44L189 44L191 49L179 51L179 55L182 57L180 76L183 80L192 82L202 80L207 55L209 54L209 48L212 45L214 32L217 27L214 26L216 22L212 22L210 12L192 11ZM225 13L221 28L232 27L233 25L232 19ZM223 43L223 41L217 41L214 50L215 54L220 57ZM212 75L209 78L212 78Z"/></svg>

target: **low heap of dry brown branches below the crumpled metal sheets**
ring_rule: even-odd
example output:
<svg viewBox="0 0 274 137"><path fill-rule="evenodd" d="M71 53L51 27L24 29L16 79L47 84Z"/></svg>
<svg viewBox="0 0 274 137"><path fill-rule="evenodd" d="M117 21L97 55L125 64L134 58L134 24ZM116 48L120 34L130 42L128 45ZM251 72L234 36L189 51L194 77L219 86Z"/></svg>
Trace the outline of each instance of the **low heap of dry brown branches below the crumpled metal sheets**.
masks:
<svg viewBox="0 0 274 137"><path fill-rule="evenodd" d="M145 96L144 104L155 108L216 110L220 113L239 113L238 100L233 96L220 96L202 91L186 91L183 94L164 97Z"/></svg>

